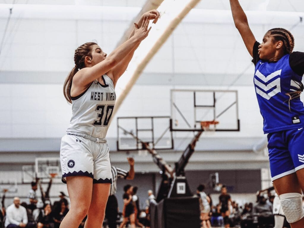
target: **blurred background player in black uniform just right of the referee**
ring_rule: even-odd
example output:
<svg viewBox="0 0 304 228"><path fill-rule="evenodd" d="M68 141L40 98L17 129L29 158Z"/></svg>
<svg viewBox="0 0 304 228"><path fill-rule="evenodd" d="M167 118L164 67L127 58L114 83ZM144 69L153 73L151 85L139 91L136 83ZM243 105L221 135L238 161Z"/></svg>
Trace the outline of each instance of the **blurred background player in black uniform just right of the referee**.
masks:
<svg viewBox="0 0 304 228"><path fill-rule="evenodd" d="M135 209L134 202L132 200L133 187L131 185L124 186L123 190L123 222L119 228L123 228L126 223L130 220L131 228L135 228Z"/></svg>

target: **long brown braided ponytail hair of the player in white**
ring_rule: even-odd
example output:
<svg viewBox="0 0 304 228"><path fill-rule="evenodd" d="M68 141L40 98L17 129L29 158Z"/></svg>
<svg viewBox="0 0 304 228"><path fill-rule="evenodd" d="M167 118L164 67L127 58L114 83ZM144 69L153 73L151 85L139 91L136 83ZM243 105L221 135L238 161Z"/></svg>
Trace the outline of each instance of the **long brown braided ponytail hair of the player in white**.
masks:
<svg viewBox="0 0 304 228"><path fill-rule="evenodd" d="M65 99L69 103L72 103L71 86L72 86L73 77L80 69L85 68L85 57L89 56L92 58L92 54L91 54L92 46L95 44L97 43L94 42L84 43L75 50L75 54L74 54L75 66L71 70L71 72L67 75L67 78L65 79L63 85L63 94Z"/></svg>

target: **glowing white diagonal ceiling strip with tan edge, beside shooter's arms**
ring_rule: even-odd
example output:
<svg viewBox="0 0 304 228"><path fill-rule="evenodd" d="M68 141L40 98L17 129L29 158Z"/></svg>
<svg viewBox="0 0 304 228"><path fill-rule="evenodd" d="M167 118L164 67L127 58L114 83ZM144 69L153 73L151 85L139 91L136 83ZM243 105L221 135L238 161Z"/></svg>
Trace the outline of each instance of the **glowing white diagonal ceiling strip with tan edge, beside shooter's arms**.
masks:
<svg viewBox="0 0 304 228"><path fill-rule="evenodd" d="M127 71L116 84L116 104L114 113L130 92L137 78L143 72L150 59L171 35L181 20L200 0L164 0L157 10L161 18L156 24L150 24L152 29L149 36L142 41L131 60Z"/></svg>

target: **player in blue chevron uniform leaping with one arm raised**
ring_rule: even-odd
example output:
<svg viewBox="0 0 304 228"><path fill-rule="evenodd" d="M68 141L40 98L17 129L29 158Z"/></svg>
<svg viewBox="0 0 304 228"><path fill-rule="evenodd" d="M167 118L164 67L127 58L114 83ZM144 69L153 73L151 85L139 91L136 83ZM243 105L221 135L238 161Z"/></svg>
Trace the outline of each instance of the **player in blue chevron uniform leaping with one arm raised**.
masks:
<svg viewBox="0 0 304 228"><path fill-rule="evenodd" d="M238 0L230 0L233 20L255 64L254 86L264 133L268 134L273 184L292 228L304 227L304 53L292 52L294 38L282 28L270 29L258 43Z"/></svg>

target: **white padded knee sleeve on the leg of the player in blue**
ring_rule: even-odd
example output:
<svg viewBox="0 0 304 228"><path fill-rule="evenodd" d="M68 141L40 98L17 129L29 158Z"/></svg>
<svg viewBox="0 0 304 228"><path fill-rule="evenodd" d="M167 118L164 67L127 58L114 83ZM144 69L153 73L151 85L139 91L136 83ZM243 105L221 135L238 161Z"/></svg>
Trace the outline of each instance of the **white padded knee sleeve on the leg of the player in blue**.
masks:
<svg viewBox="0 0 304 228"><path fill-rule="evenodd" d="M304 217L301 194L285 193L280 195L280 199L288 223L295 223Z"/></svg>

